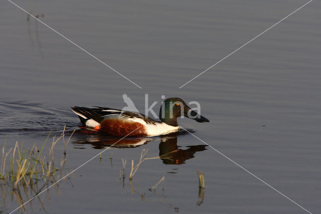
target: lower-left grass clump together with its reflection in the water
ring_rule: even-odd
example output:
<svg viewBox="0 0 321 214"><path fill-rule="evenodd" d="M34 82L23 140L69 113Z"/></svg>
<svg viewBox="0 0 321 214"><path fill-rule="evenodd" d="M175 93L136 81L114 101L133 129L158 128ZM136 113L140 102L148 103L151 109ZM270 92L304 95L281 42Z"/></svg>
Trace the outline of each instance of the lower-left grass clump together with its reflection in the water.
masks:
<svg viewBox="0 0 321 214"><path fill-rule="evenodd" d="M39 194L42 189L49 186L49 183L55 182L57 171L60 171L61 175L63 175L66 157L60 160L60 167L56 167L53 153L55 145L61 139L64 145L68 144L70 138L67 143L65 143L64 131L58 138L56 138L56 136L53 137L52 144L48 146L49 151L47 157L44 156L43 153L50 134L40 150L35 144L31 149L23 150L23 144L16 142L15 147L6 151L5 141L5 145L2 147L0 166L0 187L3 192L2 203L6 202L7 193L10 192L9 189L11 189L11 198L13 198L14 195L15 199L22 205L25 203L23 198L29 200L33 198L31 195ZM59 178L59 175L57 177ZM42 187L38 188L38 186ZM23 191L21 191L21 189ZM22 192L25 194L21 194ZM22 206L22 210L25 211L24 206Z"/></svg>

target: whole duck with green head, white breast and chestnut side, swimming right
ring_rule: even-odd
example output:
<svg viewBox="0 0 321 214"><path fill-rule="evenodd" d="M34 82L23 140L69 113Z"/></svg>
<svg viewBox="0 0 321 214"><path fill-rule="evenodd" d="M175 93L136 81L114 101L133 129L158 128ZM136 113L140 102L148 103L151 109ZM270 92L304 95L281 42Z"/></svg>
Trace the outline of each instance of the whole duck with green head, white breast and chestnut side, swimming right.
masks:
<svg viewBox="0 0 321 214"><path fill-rule="evenodd" d="M162 110L164 106L164 110ZM210 122L191 110L183 99L171 97L164 100L159 110L159 119L153 119L134 112L123 112L117 109L72 107L81 123L91 129L101 130L118 137L147 137L164 135L179 130L177 118L181 116L196 120L199 123Z"/></svg>

